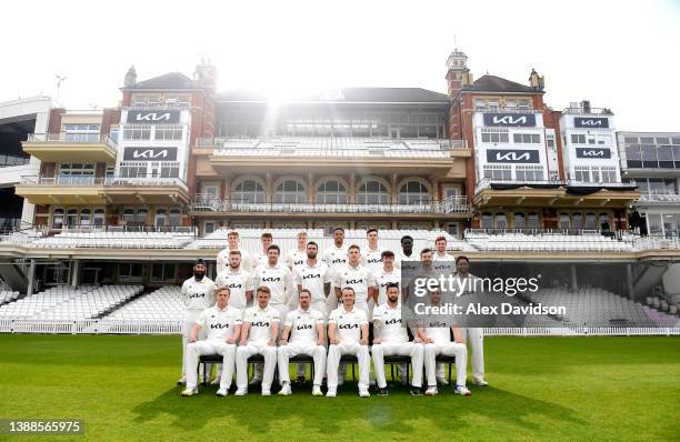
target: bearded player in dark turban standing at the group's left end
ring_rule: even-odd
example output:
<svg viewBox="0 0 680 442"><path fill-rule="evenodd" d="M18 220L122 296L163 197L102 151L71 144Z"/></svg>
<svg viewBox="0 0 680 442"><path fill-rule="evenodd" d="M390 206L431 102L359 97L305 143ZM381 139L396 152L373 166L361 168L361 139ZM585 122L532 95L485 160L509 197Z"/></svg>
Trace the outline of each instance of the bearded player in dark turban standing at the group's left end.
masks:
<svg viewBox="0 0 680 442"><path fill-rule="evenodd" d="M199 258L193 265L193 277L182 284L182 300L184 301L184 315L182 322L182 376L178 384L187 382L187 344L191 338L191 330L201 312L214 304L214 283L206 277L206 262ZM202 331L199 339L206 338ZM212 369L212 366L211 366ZM211 370L207 370L210 373Z"/></svg>

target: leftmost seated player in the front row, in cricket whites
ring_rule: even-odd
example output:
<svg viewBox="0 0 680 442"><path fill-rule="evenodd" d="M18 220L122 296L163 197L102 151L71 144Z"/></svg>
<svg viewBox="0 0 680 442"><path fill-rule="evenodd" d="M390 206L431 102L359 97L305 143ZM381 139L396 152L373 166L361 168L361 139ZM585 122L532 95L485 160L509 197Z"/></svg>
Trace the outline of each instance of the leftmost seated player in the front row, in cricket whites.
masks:
<svg viewBox="0 0 680 442"><path fill-rule="evenodd" d="M198 394L198 364L203 354L221 354L222 374L218 396L229 394L233 366L236 362L236 343L241 333L241 311L229 307L229 288L220 287L216 291L217 303L201 312L191 329L187 345L187 390L183 396ZM199 333L206 330L207 339L199 341Z"/></svg>

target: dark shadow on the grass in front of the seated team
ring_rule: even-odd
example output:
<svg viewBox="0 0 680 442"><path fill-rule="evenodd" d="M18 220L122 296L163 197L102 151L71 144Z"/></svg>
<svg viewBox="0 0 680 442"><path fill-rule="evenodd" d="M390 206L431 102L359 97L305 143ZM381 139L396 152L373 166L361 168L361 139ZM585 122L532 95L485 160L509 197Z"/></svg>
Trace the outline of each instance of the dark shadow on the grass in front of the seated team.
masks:
<svg viewBox="0 0 680 442"><path fill-rule="evenodd" d="M394 386L387 398L357 395L356 384L348 382L338 391L338 398L312 398L311 388L294 390L294 394L262 398L259 391L237 398L218 399L214 388L202 388L201 394L181 398L180 389L170 389L152 401L136 406L138 423L149 424L161 415L171 415L177 430L194 431L213 424L224 424L224 418L239 423L253 435L284 435L290 425L300 424L306 434L329 435L347 432L360 425L378 430L386 438L413 438L422 425L440 431L460 431L471 426L470 420L488 419L507 425L520 426L528 432L544 432L550 422L587 425L574 410L553 402L532 399L496 388L476 389L470 398L452 394L450 388L440 390L434 398L411 398L406 388ZM453 433L452 433L453 434Z"/></svg>

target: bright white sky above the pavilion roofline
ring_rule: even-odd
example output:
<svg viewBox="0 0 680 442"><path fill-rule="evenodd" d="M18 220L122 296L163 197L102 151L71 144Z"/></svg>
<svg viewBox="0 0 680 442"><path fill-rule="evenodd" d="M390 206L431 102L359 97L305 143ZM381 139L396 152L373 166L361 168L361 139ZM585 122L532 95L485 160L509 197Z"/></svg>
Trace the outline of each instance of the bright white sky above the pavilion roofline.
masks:
<svg viewBox="0 0 680 442"><path fill-rule="evenodd" d="M270 96L339 87L446 92L447 57L474 76L528 83L546 101L589 99L618 130L680 131L680 1L36 1L3 7L0 101L57 98L69 109L113 107L130 64L138 80L191 76L201 57L219 90Z"/></svg>

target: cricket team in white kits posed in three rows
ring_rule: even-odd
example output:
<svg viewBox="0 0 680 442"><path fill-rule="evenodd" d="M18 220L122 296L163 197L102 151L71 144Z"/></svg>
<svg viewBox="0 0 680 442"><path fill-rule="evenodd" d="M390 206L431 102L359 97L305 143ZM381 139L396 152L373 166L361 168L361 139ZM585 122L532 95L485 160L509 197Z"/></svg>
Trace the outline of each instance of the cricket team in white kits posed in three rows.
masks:
<svg viewBox="0 0 680 442"><path fill-rule="evenodd" d="M240 245L239 233L230 231L228 247L217 257L217 278L209 279L202 259L193 277L182 284L186 304L182 331L182 395L198 394L201 355L218 354L218 396L229 394L236 370L236 395L261 388L270 395L278 370L278 394L292 394L289 361L296 355L313 360L314 396L332 398L344 382L343 355L356 356L359 395L387 395L384 358L410 356L412 378L399 365L400 382L412 395L436 395L438 385L448 385L444 364L437 355L456 356L456 394L470 395L467 360L470 344L472 381L484 386L483 335L481 329L442 325L440 322L402 323L403 262L449 261L457 278L469 277L469 260L447 253L447 239L439 237L432 249L413 251L413 239L401 238L401 251L380 248L377 229L367 231L368 247L347 244L344 230L333 231L333 245L319 250L304 231L297 234L297 248L282 255L271 233L262 233L262 249L249 253ZM443 264L443 262L442 262ZM406 319L404 319L406 321ZM369 342L372 325L372 342ZM409 334L410 331L410 334ZM253 368L249 381L249 358L259 354L263 363ZM371 361L373 372L371 372ZM306 365L298 363L296 384L306 381ZM423 370L424 369L424 370ZM423 375L424 371L424 375ZM207 373L211 373L209 366ZM210 376L210 374L208 375ZM423 385L423 378L427 382ZM209 382L209 379L204 380Z"/></svg>

